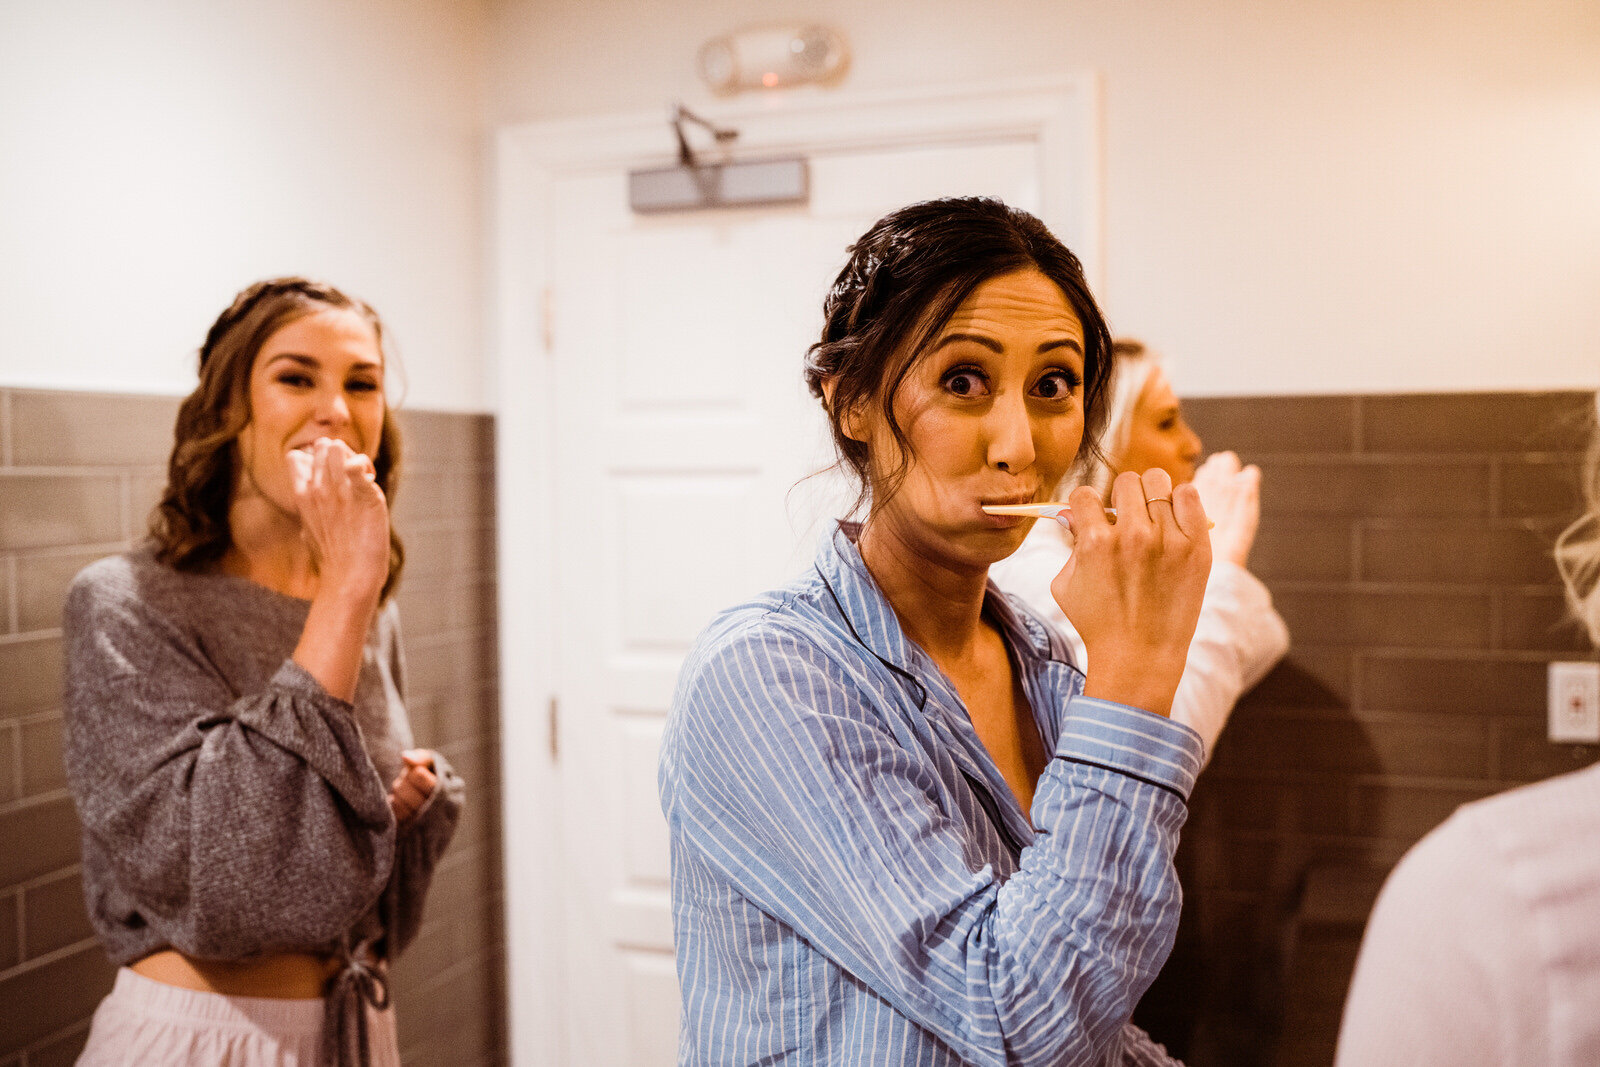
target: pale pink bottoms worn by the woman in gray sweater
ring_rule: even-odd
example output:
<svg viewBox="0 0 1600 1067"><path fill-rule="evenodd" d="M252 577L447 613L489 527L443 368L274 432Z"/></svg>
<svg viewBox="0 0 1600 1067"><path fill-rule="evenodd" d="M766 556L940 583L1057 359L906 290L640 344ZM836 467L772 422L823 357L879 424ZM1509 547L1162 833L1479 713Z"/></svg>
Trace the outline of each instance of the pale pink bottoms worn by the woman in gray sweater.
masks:
<svg viewBox="0 0 1600 1067"><path fill-rule="evenodd" d="M224 997L117 971L78 1067L318 1067L323 1001ZM373 1067L400 1067L394 1008L366 1008Z"/></svg>

